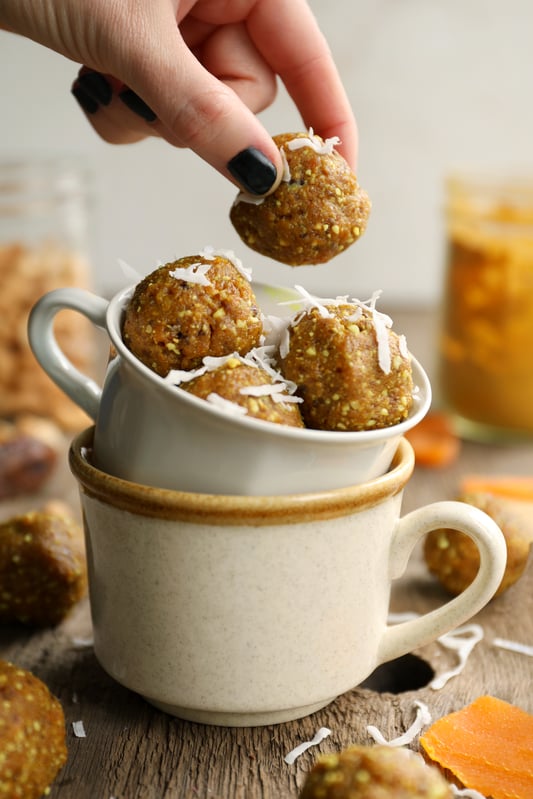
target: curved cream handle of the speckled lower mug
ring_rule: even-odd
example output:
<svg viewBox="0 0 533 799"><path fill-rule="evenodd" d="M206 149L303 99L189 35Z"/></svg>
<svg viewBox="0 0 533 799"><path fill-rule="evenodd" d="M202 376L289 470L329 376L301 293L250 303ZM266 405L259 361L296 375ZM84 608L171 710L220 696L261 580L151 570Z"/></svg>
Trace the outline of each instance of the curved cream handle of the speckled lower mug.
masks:
<svg viewBox="0 0 533 799"><path fill-rule="evenodd" d="M478 508L451 501L425 505L398 521L389 561L392 580L404 573L416 542L432 530L442 528L460 530L473 539L480 554L479 571L468 588L441 607L386 627L380 641L378 663L405 655L463 624L486 605L501 582L507 547L500 528Z"/></svg>

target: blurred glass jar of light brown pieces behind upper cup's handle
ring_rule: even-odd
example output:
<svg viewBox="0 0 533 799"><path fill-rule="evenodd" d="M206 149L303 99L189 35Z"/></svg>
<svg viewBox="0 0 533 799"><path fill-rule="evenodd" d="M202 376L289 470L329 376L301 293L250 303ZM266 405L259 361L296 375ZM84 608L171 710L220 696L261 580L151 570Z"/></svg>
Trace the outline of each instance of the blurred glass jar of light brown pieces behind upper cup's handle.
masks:
<svg viewBox="0 0 533 799"><path fill-rule="evenodd" d="M87 417L52 383L30 350L27 321L48 291L91 286L89 174L66 158L0 161L0 417L35 414L66 430ZM86 319L62 312L56 335L82 371L94 363Z"/></svg>

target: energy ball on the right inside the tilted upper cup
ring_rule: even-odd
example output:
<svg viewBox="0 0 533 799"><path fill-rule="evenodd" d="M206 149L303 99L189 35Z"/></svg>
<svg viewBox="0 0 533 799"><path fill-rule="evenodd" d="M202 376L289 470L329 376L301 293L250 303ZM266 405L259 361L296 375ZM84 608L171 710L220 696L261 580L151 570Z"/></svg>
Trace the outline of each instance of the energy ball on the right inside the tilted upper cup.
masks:
<svg viewBox="0 0 533 799"><path fill-rule="evenodd" d="M353 303L312 307L296 316L280 371L298 387L306 427L375 430L407 418L411 358L390 323Z"/></svg>

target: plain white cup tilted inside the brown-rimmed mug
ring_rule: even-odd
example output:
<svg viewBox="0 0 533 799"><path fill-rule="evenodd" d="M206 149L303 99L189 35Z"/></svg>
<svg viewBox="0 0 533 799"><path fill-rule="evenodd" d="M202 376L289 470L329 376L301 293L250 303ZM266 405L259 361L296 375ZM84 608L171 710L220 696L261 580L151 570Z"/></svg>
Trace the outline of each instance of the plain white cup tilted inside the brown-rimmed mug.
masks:
<svg viewBox="0 0 533 799"><path fill-rule="evenodd" d="M418 388L409 418L381 430L304 430L232 416L165 382L124 345L121 320L133 288L110 302L58 289L33 308L28 334L43 369L96 421L94 461L125 480L221 494L289 494L353 485L383 474L406 430L427 413L428 378L413 360ZM271 301L270 301L271 302ZM54 337L70 308L107 330L114 352L103 388L80 373Z"/></svg>

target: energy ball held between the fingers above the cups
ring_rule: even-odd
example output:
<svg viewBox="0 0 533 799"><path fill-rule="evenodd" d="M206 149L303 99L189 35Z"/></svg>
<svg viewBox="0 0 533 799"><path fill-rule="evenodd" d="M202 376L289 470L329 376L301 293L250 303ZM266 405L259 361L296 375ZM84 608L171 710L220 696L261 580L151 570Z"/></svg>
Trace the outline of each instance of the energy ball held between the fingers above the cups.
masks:
<svg viewBox="0 0 533 799"><path fill-rule="evenodd" d="M371 203L357 177L312 131L274 136L285 175L268 197L239 194L231 222L252 250L289 266L330 261L366 228Z"/></svg>

